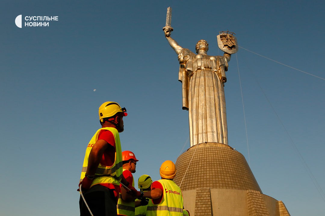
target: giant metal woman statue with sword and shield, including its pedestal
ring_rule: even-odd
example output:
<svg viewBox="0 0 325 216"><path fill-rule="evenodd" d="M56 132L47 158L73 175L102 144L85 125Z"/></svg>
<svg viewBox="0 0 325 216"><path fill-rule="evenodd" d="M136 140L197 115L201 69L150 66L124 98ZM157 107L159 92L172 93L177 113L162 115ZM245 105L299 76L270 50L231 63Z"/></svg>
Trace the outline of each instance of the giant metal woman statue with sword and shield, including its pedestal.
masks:
<svg viewBox="0 0 325 216"><path fill-rule="evenodd" d="M170 36L172 10L167 8L165 37L178 55L183 109L188 110L190 148L176 160L173 181L182 190L191 216L290 216L284 203L263 194L245 157L228 145L225 72L238 50L234 33L217 35L223 56L208 55L200 40L196 54Z"/></svg>

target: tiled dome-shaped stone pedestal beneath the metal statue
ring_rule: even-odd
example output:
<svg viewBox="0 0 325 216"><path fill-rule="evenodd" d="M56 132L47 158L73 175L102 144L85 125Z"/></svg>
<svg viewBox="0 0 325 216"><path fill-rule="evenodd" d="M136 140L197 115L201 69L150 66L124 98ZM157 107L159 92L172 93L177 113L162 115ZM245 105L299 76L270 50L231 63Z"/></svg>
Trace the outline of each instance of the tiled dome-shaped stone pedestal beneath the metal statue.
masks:
<svg viewBox="0 0 325 216"><path fill-rule="evenodd" d="M245 157L221 143L202 143L176 160L174 182L191 216L290 216L282 201L262 193Z"/></svg>

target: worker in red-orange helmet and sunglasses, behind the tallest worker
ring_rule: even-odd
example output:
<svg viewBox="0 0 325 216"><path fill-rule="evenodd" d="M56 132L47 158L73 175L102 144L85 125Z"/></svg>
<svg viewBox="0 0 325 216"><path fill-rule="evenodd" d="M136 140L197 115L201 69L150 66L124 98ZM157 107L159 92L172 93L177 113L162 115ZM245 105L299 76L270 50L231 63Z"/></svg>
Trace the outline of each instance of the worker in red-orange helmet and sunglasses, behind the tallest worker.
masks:
<svg viewBox="0 0 325 216"><path fill-rule="evenodd" d="M126 181L134 187L134 178L132 173L136 172L136 159L135 154L132 151L122 152L123 162L123 177ZM121 192L119 194L119 200L117 203L117 215L121 216L135 216L135 207L140 205L140 202L135 202L136 197L127 193L121 185Z"/></svg>

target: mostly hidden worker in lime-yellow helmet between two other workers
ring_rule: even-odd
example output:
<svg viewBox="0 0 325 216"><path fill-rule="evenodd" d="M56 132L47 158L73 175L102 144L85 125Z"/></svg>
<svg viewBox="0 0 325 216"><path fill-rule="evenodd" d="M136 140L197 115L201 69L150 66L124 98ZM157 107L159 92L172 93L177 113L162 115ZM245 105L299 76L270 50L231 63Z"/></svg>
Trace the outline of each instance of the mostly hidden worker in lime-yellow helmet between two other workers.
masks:
<svg viewBox="0 0 325 216"><path fill-rule="evenodd" d="M138 188L140 188L140 191L149 191L152 184L152 179L149 175L141 175L138 179ZM147 206L149 201L148 198L141 198L136 199L136 201L139 201L141 206L136 207L136 213L135 216L146 216L147 212Z"/></svg>

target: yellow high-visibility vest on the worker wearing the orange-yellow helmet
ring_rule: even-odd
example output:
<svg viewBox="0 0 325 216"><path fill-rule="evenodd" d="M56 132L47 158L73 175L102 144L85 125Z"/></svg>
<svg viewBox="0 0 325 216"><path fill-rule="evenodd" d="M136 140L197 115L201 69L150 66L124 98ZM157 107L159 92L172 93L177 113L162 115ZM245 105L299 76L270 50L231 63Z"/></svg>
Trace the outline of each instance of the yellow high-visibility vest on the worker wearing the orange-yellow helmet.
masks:
<svg viewBox="0 0 325 216"><path fill-rule="evenodd" d="M167 179L158 180L162 184L162 201L147 207L147 216L183 216L183 196L181 189Z"/></svg>

